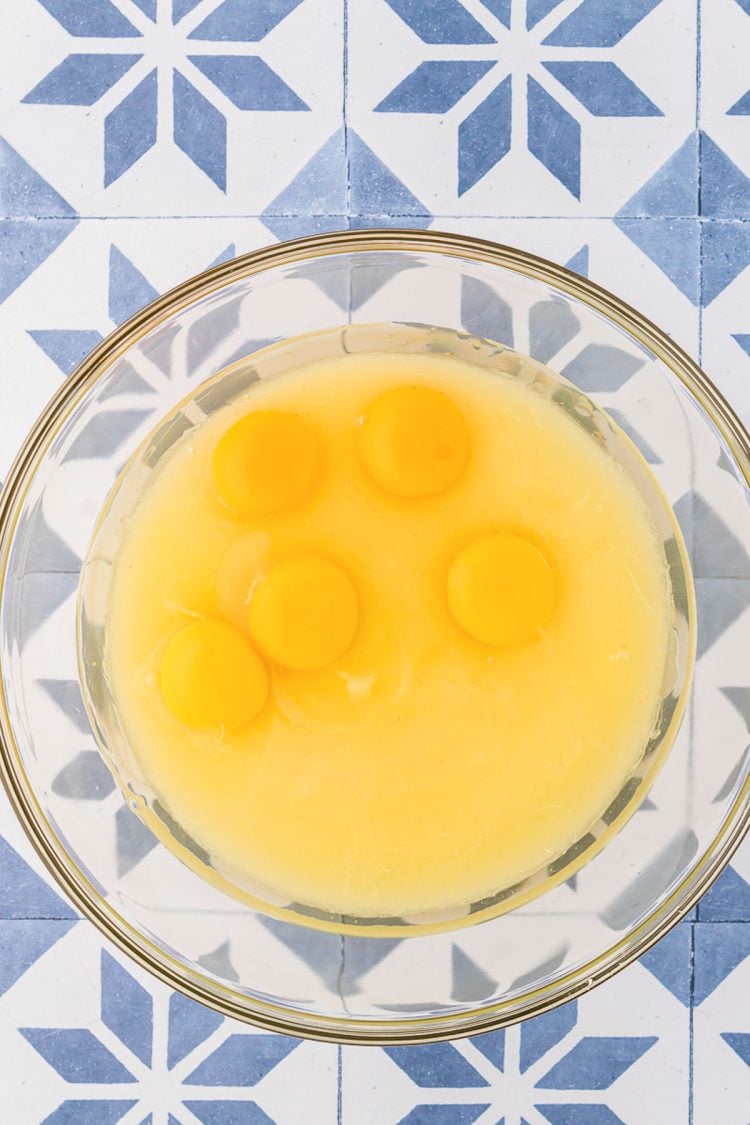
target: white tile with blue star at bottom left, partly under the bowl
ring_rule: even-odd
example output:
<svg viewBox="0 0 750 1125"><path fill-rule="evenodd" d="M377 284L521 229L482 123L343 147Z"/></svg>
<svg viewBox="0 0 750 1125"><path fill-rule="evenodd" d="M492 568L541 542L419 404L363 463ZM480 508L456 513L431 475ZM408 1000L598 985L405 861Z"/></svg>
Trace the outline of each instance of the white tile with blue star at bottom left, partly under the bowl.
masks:
<svg viewBox="0 0 750 1125"><path fill-rule="evenodd" d="M88 925L6 991L0 1051L3 1104L24 1125L137 1125L148 1114L159 1125L336 1119L335 1046L224 1019L141 972Z"/></svg>

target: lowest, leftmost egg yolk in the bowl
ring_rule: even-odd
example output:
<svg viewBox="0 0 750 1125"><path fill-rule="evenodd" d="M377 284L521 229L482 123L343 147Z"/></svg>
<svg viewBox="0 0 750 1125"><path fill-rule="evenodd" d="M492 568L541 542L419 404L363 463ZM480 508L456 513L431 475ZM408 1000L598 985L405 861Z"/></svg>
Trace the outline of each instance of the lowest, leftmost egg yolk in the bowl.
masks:
<svg viewBox="0 0 750 1125"><path fill-rule="evenodd" d="M189 727L242 727L269 693L265 665L247 638L226 621L209 619L172 638L159 682L169 710Z"/></svg>

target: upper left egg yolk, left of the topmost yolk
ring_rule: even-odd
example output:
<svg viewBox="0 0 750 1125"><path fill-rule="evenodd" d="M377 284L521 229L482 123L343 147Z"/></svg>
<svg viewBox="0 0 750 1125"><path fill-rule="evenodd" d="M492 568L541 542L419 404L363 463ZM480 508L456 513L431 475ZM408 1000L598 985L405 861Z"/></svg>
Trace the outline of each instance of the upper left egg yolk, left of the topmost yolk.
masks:
<svg viewBox="0 0 750 1125"><path fill-rule="evenodd" d="M320 442L309 422L286 411L255 411L219 438L211 479L234 512L273 515L309 496L320 461Z"/></svg>

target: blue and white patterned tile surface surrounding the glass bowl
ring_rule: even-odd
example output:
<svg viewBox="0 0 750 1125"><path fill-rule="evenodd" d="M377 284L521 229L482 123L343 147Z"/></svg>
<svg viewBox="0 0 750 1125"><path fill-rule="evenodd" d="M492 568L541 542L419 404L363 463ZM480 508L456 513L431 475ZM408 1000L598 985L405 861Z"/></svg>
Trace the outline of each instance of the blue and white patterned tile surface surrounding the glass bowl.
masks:
<svg viewBox="0 0 750 1125"><path fill-rule="evenodd" d="M748 0L0 11L0 479L60 380L139 305L223 256L347 224L570 263L750 418ZM750 700L728 706L750 735ZM340 1052L171 996L76 918L4 803L0 834L13 1125L750 1120L747 845L695 920L577 1007L504 1036Z"/></svg>

